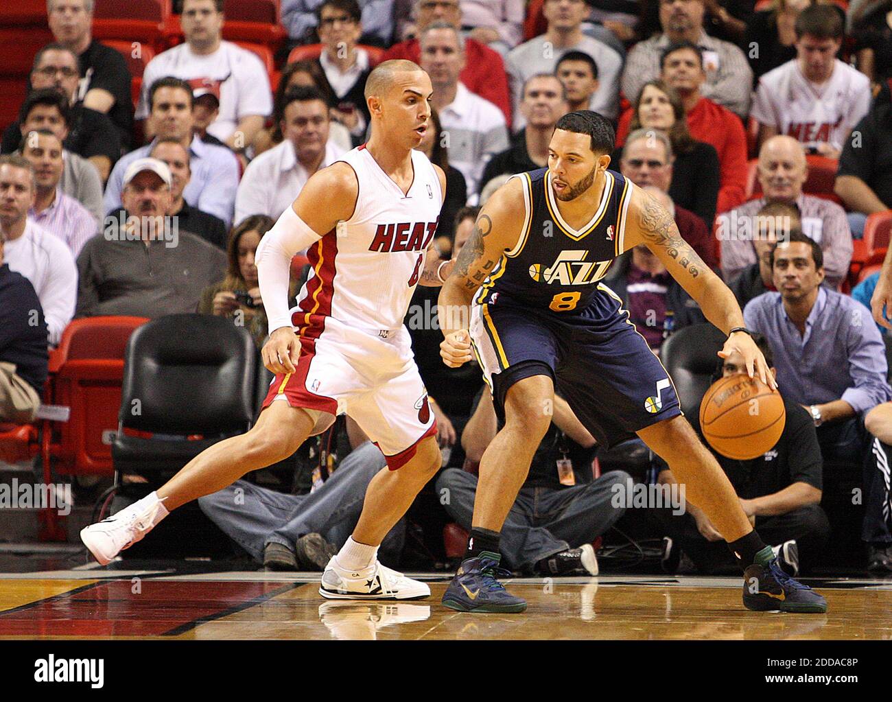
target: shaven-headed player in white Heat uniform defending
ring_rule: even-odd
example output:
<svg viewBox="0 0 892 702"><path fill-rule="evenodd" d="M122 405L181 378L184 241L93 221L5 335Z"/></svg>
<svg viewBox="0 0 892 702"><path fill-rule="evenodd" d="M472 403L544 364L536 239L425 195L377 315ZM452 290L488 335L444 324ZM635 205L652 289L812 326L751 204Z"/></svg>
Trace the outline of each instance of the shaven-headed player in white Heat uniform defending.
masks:
<svg viewBox="0 0 892 702"><path fill-rule="evenodd" d="M415 285L440 285L451 268L427 255L446 177L414 151L430 128L431 93L430 78L409 61L384 62L369 75L368 144L310 178L257 250L270 331L262 354L276 374L257 424L203 451L157 492L87 526L81 539L101 564L170 510L291 456L343 412L376 442L388 468L369 483L359 523L319 592L334 599L430 594L376 554L441 464L436 421L402 326ZM290 261L303 249L313 268L288 310L279 301Z"/></svg>

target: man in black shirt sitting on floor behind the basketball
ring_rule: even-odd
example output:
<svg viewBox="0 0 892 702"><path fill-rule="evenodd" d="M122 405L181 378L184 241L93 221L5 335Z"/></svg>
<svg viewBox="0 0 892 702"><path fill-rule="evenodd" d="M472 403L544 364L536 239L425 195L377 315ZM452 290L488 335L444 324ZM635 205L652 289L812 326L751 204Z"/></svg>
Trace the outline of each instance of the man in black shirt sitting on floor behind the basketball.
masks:
<svg viewBox="0 0 892 702"><path fill-rule="evenodd" d="M765 337L756 334L754 339L772 375L777 376L772 350ZM713 379L746 373L743 358L735 352L719 360ZM773 548L781 566L796 575L800 562L808 566L823 549L830 537L830 523L819 504L823 463L812 417L797 402L787 398L784 398L784 409L787 422L783 434L764 455L733 460L710 450L734 486L743 511L755 522L766 543L778 544ZM660 484L675 483L672 471L658 458L657 467L661 470ZM686 501L685 505L686 511L681 515L673 515L668 508L654 512L671 539L664 548L666 569L675 571L682 552L701 573L714 573L723 566L733 569L734 558L725 547L722 535L702 511L690 502Z"/></svg>

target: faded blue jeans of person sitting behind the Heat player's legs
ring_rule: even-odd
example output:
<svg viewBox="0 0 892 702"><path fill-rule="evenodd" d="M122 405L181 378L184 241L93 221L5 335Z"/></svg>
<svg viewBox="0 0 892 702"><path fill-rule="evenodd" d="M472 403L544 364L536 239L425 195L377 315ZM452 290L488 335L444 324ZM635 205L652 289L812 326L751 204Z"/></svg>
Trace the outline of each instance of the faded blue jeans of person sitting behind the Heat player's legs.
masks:
<svg viewBox="0 0 892 702"><path fill-rule="evenodd" d="M238 480L198 500L202 512L258 563L271 542L294 549L308 533L319 533L341 548L359 521L368 483L386 470L384 454L371 442L352 450L331 477L309 495L286 495ZM406 535L405 521L384 537L382 562L396 565Z"/></svg>

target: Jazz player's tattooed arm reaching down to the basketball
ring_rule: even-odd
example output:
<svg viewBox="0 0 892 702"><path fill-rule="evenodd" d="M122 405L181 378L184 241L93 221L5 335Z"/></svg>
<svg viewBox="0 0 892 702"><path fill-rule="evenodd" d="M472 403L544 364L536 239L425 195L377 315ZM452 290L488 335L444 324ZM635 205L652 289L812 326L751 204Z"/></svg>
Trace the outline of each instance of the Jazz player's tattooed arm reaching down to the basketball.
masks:
<svg viewBox="0 0 892 702"><path fill-rule="evenodd" d="M632 193L626 222L625 250L645 244L663 262L669 274L697 301L706 318L725 334L736 326L744 326L743 312L722 278L716 276L690 244L681 238L669 213L640 188L636 187ZM750 377L755 374L764 384L777 387L774 377L768 372L762 351L749 334L731 334L719 356L727 358L732 351L739 351L743 356Z"/></svg>

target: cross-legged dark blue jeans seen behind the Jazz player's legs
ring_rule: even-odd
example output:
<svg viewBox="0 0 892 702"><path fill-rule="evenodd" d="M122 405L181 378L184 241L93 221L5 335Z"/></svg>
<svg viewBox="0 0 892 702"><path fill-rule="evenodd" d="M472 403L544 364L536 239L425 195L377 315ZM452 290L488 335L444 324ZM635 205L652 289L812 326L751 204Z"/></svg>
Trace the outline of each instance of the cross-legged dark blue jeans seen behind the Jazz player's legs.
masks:
<svg viewBox="0 0 892 702"><path fill-rule="evenodd" d="M542 558L579 548L607 532L625 513L610 504L612 487L626 480L630 475L615 470L573 487L521 488L501 530L506 565L532 571ZM436 488L450 516L470 530L477 476L449 468L437 478Z"/></svg>

